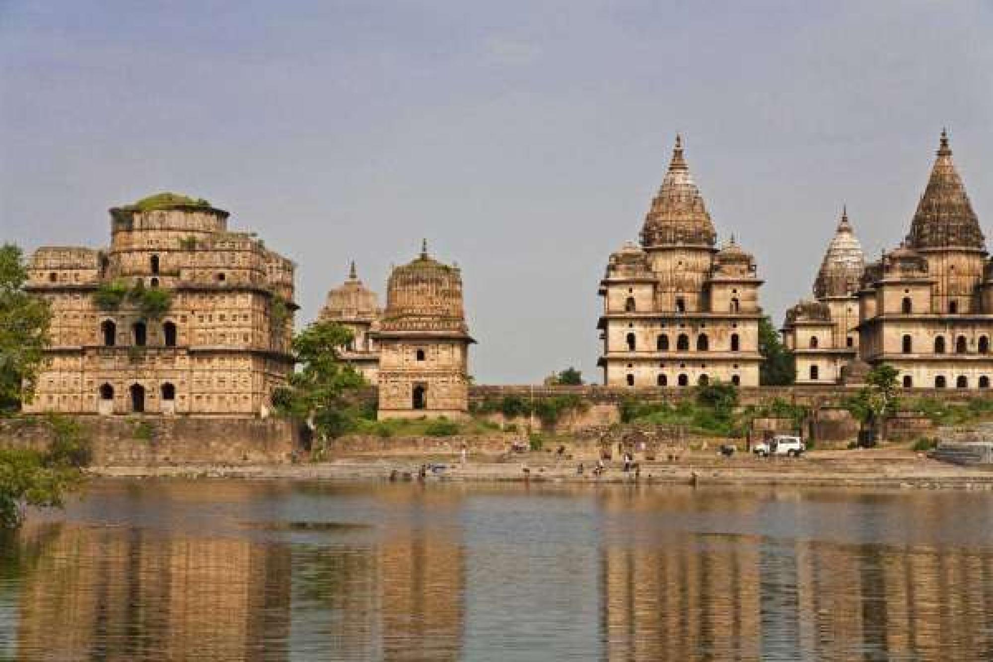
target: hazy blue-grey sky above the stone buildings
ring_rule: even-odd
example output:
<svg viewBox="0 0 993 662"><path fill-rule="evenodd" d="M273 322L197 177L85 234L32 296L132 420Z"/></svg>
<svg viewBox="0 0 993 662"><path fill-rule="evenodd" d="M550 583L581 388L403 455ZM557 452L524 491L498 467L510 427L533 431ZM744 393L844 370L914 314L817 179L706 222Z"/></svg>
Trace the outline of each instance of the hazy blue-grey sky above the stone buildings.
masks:
<svg viewBox="0 0 993 662"><path fill-rule="evenodd" d="M300 326L426 238L477 383L598 381L597 285L676 132L777 325L842 205L868 256L900 243L943 126L989 236L990 35L990 0L0 0L0 241L207 198L296 261Z"/></svg>

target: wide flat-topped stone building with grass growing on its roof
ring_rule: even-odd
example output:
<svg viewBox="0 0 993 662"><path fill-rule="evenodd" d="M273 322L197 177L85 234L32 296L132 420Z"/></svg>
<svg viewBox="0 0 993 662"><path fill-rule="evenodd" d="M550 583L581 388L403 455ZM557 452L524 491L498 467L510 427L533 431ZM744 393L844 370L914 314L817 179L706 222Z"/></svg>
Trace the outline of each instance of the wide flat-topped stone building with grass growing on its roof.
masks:
<svg viewBox="0 0 993 662"><path fill-rule="evenodd" d="M54 317L26 411L268 414L293 369L293 262L203 200L162 194L110 214L110 248L30 259L28 289ZM144 306L149 293L167 309Z"/></svg>

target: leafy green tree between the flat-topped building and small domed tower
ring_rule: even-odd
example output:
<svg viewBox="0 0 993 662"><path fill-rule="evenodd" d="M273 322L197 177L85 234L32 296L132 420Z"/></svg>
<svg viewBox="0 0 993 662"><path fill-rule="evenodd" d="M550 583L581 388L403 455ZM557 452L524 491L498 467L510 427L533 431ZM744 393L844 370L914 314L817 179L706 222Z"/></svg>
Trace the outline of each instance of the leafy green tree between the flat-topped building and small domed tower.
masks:
<svg viewBox="0 0 993 662"><path fill-rule="evenodd" d="M352 429L358 415L358 390L365 380L339 358L352 338L352 331L331 322L315 322L298 333L293 338L298 369L272 397L277 411L306 420L322 441Z"/></svg>

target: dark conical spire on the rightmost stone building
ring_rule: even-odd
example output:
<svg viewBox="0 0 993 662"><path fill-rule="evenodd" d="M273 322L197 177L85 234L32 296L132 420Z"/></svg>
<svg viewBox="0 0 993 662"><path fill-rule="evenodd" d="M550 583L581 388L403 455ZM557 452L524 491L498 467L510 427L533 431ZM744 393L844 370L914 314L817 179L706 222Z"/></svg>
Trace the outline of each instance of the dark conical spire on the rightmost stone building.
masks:
<svg viewBox="0 0 993 662"><path fill-rule="evenodd" d="M944 129L907 244L916 250L966 248L986 251L979 219L972 211L962 178L951 160L948 132Z"/></svg>

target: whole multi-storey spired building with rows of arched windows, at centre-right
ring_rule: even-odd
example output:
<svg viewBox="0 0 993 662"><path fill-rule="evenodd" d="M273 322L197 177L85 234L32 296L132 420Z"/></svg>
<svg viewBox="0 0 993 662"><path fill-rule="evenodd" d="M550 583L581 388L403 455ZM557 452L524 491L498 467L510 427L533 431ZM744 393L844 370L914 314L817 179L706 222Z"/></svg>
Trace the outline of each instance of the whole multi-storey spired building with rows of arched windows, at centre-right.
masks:
<svg viewBox="0 0 993 662"><path fill-rule="evenodd" d="M759 385L759 286L752 255L717 234L676 136L641 244L613 253L600 282L609 386Z"/></svg>

